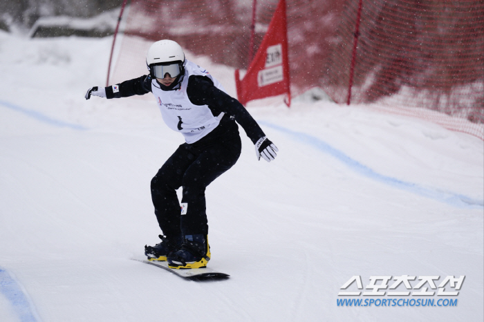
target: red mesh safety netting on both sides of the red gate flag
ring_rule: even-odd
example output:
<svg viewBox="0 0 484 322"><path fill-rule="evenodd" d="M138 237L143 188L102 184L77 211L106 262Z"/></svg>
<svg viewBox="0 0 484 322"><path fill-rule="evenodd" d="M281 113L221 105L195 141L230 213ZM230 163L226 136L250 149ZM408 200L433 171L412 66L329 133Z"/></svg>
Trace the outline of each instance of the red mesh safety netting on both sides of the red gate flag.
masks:
<svg viewBox="0 0 484 322"><path fill-rule="evenodd" d="M131 0L109 82L146 73L150 41L245 69L252 0ZM257 0L255 51L277 0ZM292 96L413 115L484 140L484 0L286 0ZM147 41L143 41L146 39Z"/></svg>

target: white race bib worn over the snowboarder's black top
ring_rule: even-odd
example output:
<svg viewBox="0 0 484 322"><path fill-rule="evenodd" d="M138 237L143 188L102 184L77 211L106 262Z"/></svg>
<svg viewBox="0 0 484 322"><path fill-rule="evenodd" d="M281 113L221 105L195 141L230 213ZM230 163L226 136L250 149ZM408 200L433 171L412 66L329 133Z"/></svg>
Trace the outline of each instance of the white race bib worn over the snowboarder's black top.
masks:
<svg viewBox="0 0 484 322"><path fill-rule="evenodd" d="M207 76L212 79L216 88L225 92L223 86L207 70L188 60L185 60L185 76L180 89L162 91L156 79L151 81L151 92L155 95L163 121L170 129L182 133L185 142L189 144L210 133L223 117L223 113L214 116L207 105L195 105L190 102L187 85L191 75Z"/></svg>

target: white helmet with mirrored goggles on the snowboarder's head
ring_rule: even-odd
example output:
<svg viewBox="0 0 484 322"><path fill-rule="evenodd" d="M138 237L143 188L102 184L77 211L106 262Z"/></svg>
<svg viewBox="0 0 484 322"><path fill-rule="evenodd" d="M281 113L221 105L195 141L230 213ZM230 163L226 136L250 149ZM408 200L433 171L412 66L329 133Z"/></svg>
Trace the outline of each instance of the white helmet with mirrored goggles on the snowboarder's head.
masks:
<svg viewBox="0 0 484 322"><path fill-rule="evenodd" d="M146 64L153 78L163 78L167 73L177 77L185 73L185 53L176 41L163 39L148 49Z"/></svg>

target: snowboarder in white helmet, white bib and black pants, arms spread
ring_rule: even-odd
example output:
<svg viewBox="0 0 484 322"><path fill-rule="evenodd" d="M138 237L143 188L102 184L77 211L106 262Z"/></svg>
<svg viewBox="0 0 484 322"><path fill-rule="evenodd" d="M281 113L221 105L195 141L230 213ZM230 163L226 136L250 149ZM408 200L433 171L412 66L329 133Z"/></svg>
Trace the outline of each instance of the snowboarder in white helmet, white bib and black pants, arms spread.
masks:
<svg viewBox="0 0 484 322"><path fill-rule="evenodd" d="M171 268L206 267L210 246L205 188L239 159L241 138L236 122L254 143L258 160L262 157L270 162L279 150L207 70L185 59L183 48L175 41L156 41L146 61L149 75L89 88L85 98L151 92L167 126L183 134L185 143L151 180L151 199L163 235L161 243L145 246L145 255L150 261L168 261ZM176 195L180 187L181 205Z"/></svg>

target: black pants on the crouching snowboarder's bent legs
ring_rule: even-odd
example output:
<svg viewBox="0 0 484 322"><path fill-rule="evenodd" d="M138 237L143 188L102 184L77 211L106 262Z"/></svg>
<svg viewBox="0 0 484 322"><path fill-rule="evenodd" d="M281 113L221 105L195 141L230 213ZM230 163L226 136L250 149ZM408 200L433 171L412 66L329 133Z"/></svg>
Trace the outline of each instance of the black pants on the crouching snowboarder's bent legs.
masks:
<svg viewBox="0 0 484 322"><path fill-rule="evenodd" d="M225 116L219 126L194 144L181 144L151 180L151 199L163 234L208 234L205 188L230 169L241 154L241 138L233 120ZM176 190L183 187L181 214Z"/></svg>

